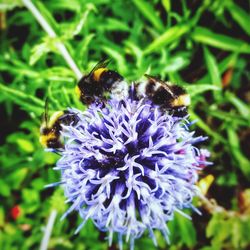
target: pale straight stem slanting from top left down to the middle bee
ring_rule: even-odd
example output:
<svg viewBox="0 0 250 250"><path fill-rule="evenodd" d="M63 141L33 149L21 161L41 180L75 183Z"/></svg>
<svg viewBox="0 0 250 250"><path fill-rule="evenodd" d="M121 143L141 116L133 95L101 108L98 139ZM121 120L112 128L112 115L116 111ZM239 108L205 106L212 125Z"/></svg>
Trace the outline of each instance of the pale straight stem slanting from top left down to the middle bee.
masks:
<svg viewBox="0 0 250 250"><path fill-rule="evenodd" d="M36 8L36 6L30 1L30 0L22 0L23 4L30 10L30 12L33 14L33 16L37 19L37 21L40 23L42 28L48 33L48 35L52 38L56 38L57 35L55 31L52 29L52 27L48 24L48 22L45 20L45 18L41 15L39 10ZM62 42L57 42L56 46L62 56L64 57L65 61L69 65L69 67L73 70L78 80L81 79L82 73L79 70L78 66L72 59L71 55L69 54L67 48Z"/></svg>

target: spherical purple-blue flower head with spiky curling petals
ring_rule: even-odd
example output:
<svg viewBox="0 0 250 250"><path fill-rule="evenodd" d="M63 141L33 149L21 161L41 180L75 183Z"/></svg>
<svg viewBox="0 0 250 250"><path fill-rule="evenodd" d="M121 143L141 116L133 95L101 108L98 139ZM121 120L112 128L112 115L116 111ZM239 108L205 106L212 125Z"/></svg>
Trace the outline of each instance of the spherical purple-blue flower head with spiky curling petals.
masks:
<svg viewBox="0 0 250 250"><path fill-rule="evenodd" d="M112 99L86 111L70 109L79 121L63 126L65 148L57 163L67 201L103 231L134 239L153 230L168 241L166 222L192 207L197 170L208 163L195 144L190 123L144 98ZM124 237L123 237L124 236Z"/></svg>

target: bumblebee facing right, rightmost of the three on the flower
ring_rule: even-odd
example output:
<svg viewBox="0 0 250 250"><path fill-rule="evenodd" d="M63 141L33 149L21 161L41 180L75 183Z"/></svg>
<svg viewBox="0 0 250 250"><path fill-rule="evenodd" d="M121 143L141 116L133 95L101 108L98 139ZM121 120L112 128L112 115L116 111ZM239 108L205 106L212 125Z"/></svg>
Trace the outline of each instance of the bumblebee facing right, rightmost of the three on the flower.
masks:
<svg viewBox="0 0 250 250"><path fill-rule="evenodd" d="M138 83L136 93L138 98L147 97L162 109L177 116L185 116L190 105L190 96L186 90L170 82L164 82L154 76L145 74L147 80Z"/></svg>

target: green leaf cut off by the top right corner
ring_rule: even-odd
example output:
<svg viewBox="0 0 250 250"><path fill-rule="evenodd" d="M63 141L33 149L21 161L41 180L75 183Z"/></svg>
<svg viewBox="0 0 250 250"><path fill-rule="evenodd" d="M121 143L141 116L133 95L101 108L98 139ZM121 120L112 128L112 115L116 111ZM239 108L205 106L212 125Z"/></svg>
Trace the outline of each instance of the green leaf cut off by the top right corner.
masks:
<svg viewBox="0 0 250 250"><path fill-rule="evenodd" d="M245 10L240 8L233 1L226 1L226 8L231 14L232 18L240 25L240 27L250 35L250 15Z"/></svg>

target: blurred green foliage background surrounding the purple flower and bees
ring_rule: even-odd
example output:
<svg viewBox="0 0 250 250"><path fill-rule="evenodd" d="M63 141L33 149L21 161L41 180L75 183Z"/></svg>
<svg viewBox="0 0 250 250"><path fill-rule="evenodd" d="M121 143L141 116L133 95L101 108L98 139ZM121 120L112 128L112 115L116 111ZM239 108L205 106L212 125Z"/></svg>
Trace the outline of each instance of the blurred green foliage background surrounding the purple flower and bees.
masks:
<svg viewBox="0 0 250 250"><path fill-rule="evenodd" d="M0 249L39 249L57 211L49 249L108 249L91 222L74 235L77 213L67 209L53 170L58 156L44 152L39 127L44 100L51 113L78 102L74 72L56 43L63 42L84 72L112 60L128 81L146 72L185 86L191 119L214 165L200 174L210 203L194 201L202 216L176 215L171 245L156 232L158 249L250 247L250 1L57 0L33 1L56 32L51 38L21 0L0 1ZM126 245L125 249L128 248ZM118 249L116 240L109 249ZM135 249L155 249L147 233ZM248 248L249 249L249 248Z"/></svg>

